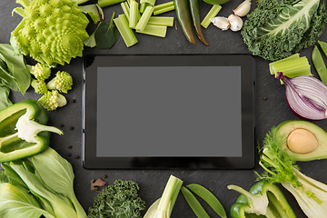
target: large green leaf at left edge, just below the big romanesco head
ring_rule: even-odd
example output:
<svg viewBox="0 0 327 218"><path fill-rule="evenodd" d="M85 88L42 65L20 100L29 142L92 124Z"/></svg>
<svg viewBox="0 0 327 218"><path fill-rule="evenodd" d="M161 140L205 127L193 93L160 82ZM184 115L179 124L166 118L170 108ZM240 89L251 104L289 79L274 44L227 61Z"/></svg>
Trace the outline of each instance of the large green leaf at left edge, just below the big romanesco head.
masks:
<svg viewBox="0 0 327 218"><path fill-rule="evenodd" d="M15 54L14 47L0 44L0 84L23 95L30 86L31 74L22 54Z"/></svg>

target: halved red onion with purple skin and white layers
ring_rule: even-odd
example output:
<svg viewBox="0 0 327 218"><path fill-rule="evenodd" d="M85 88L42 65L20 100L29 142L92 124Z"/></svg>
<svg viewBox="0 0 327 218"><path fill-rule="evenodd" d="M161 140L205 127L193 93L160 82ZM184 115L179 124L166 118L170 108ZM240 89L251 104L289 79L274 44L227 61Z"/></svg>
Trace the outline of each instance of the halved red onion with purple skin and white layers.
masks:
<svg viewBox="0 0 327 218"><path fill-rule="evenodd" d="M327 118L327 85L310 75L287 77L277 73L286 87L286 99L292 112L309 120Z"/></svg>

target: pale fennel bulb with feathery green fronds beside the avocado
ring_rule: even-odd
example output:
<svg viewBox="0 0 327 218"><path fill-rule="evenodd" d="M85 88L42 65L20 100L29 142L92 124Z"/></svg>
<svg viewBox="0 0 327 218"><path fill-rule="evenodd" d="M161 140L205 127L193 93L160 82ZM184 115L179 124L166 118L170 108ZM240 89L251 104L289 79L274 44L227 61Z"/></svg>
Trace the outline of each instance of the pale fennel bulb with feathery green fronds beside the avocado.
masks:
<svg viewBox="0 0 327 218"><path fill-rule="evenodd" d="M292 156L283 149L284 138L276 134L273 127L263 141L260 165L265 170L258 179L271 183L282 183L299 203L309 218L325 217L327 213L327 185L305 176L295 165Z"/></svg>

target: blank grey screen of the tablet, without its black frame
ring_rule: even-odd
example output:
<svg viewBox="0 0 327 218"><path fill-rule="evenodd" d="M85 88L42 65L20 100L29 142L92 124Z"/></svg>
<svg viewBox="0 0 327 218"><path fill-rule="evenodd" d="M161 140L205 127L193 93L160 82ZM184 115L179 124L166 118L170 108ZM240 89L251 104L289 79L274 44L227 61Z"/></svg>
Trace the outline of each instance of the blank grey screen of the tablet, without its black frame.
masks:
<svg viewBox="0 0 327 218"><path fill-rule="evenodd" d="M98 67L96 156L241 156L241 86L241 66Z"/></svg>

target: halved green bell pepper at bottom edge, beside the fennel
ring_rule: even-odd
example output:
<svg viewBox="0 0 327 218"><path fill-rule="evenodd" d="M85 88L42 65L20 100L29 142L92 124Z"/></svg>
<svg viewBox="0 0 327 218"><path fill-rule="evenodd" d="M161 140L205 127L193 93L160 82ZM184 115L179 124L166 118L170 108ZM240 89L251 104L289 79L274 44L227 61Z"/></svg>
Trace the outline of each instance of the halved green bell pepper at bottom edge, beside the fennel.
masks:
<svg viewBox="0 0 327 218"><path fill-rule="evenodd" d="M296 218L281 190L273 183L261 181L249 192L236 185L228 185L242 193L231 208L233 218Z"/></svg>

